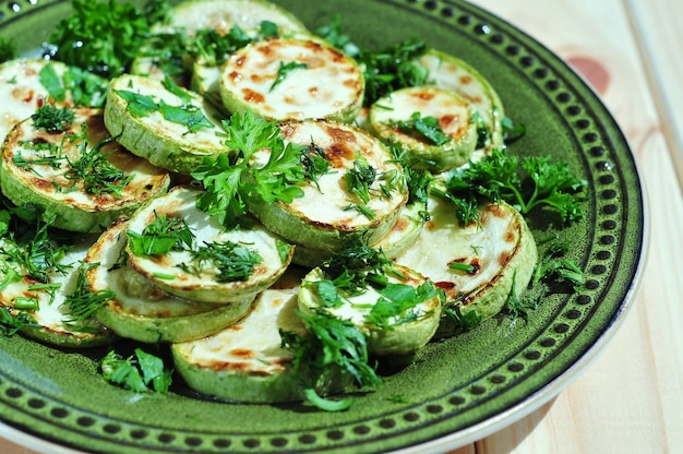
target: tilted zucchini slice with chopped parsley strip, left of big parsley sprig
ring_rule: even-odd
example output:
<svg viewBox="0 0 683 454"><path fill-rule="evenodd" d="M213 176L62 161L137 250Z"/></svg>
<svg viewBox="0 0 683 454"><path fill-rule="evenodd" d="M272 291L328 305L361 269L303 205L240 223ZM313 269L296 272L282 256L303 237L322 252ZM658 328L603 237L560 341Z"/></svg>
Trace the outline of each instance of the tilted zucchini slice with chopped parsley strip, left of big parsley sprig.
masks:
<svg viewBox="0 0 683 454"><path fill-rule="evenodd" d="M207 156L235 154L202 96L180 87L171 92L149 77L123 74L111 81L105 124L131 153L183 175Z"/></svg>

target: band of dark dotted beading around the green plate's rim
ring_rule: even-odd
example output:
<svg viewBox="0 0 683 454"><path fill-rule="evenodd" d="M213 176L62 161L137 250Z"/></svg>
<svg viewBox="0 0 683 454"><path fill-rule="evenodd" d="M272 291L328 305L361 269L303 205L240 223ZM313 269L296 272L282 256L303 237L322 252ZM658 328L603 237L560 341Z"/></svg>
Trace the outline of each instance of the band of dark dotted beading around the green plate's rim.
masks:
<svg viewBox="0 0 683 454"><path fill-rule="evenodd" d="M589 187L595 191L595 203L601 220L597 225L596 241L587 254L585 289L571 297L562 308L561 316L556 318L541 336L534 339L506 365L480 377L465 389L453 390L447 395L431 402L411 405L387 414L380 420L356 422L333 429L321 428L276 435L232 434L226 437L218 433L177 433L152 426L128 425L124 421L83 411L69 404L46 402L38 392L23 389L4 379L0 379L0 401L13 407L24 408L36 418L50 420L57 427L61 426L70 430L77 427L91 438L116 442L128 440L129 443L143 447L169 451L201 450L202 452L220 452L228 449L231 452L284 452L305 451L343 443L349 450L357 450L359 446L354 446L360 443L382 440L398 432L419 430L426 425L447 419L471 408L481 401L491 399L542 368L546 361L562 349L562 346L590 319L596 307L595 301L600 300L602 291L600 283L607 280L606 276L614 272L614 258L619 256L620 250L624 247L620 243L622 216L625 215L620 210L620 194L624 193L625 188L620 181L613 156L608 151L609 144L603 143L599 124L584 109L582 99L575 97L561 76L554 74L548 64L539 61L514 38L480 20L477 12L469 12L467 7L463 7L462 10L446 1L385 0L385 2L404 7L406 3L415 3L410 8L421 10L417 12L477 36L482 41L488 41L493 51L503 56L517 70L526 74L532 84L554 99L555 107L561 109L565 113L566 121L571 122L576 141L583 147L586 164L594 169ZM22 12L24 8L29 9L37 3L38 0L3 3L0 8L0 23L9 20L12 13ZM2 377L1 372L0 377Z"/></svg>

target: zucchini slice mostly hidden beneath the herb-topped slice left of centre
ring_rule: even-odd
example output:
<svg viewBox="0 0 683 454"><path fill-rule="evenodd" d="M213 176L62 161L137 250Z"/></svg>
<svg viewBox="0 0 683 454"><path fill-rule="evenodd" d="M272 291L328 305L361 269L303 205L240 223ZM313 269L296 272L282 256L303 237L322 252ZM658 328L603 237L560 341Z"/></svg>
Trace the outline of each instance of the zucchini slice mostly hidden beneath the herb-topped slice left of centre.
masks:
<svg viewBox="0 0 683 454"><path fill-rule="evenodd" d="M103 325L120 337L144 343L185 342L216 333L249 312L252 299L217 306L181 299L154 286L122 263L127 228L127 219L115 223L85 258L91 289L116 292L97 311Z"/></svg>

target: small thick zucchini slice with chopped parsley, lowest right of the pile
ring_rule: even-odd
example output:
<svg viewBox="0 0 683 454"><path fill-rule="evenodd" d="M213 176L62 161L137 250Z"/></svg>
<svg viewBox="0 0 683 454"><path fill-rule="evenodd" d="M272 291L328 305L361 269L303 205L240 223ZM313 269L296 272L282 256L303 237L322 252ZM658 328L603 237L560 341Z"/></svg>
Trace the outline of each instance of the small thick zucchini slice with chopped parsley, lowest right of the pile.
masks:
<svg viewBox="0 0 683 454"><path fill-rule="evenodd" d="M326 310L338 319L350 320L366 334L369 354L412 354L436 332L441 319L439 294L433 283L406 266L393 266L393 273L386 273L386 278L383 288L367 285L350 295L337 291L338 300L333 303L328 297L321 296L319 287L321 282L328 284L331 280L320 267L314 268L301 284L299 309L304 314Z"/></svg>

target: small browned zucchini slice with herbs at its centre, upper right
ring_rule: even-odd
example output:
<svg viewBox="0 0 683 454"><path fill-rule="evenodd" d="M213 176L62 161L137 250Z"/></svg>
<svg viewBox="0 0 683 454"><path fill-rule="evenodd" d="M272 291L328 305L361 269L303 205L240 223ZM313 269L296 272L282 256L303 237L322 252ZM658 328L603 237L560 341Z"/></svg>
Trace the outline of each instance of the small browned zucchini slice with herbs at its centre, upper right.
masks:
<svg viewBox="0 0 683 454"><path fill-rule="evenodd" d="M428 120L434 124L427 124ZM370 108L369 123L383 141L400 144L418 169L441 172L462 166L477 147L469 103L435 86L402 88L378 99ZM427 135L415 132L416 126L423 126Z"/></svg>

